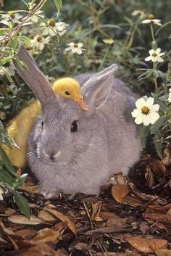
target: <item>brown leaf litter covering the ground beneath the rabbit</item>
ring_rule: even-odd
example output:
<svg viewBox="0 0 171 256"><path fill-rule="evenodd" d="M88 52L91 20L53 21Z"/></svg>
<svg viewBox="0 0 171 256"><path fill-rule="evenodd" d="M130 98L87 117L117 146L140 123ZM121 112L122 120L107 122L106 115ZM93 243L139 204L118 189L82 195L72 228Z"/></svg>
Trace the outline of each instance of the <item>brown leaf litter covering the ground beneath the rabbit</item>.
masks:
<svg viewBox="0 0 171 256"><path fill-rule="evenodd" d="M170 155L170 147L162 161L146 155L133 176L112 177L99 197L46 200L28 176L21 192L30 219L10 195L0 202L0 255L171 256Z"/></svg>

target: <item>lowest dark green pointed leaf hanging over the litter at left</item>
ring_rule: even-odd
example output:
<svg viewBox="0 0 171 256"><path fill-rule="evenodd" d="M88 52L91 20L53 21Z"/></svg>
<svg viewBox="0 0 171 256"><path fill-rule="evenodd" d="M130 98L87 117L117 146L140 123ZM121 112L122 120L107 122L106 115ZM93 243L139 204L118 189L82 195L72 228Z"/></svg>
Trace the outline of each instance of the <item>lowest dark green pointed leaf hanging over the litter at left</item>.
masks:
<svg viewBox="0 0 171 256"><path fill-rule="evenodd" d="M22 212L28 219L30 219L30 208L28 206L28 200L21 194L14 192L14 200Z"/></svg>

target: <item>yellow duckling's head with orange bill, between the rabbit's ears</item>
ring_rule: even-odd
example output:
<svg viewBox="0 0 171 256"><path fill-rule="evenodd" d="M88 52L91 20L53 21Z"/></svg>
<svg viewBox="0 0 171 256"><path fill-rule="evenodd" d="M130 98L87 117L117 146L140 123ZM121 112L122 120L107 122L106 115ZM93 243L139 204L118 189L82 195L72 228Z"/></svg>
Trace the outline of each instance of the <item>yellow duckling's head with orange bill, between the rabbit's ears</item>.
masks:
<svg viewBox="0 0 171 256"><path fill-rule="evenodd" d="M81 89L78 81L73 78L61 78L56 80L53 85L55 94L66 99L72 99L82 110L88 110L88 105L83 101Z"/></svg>

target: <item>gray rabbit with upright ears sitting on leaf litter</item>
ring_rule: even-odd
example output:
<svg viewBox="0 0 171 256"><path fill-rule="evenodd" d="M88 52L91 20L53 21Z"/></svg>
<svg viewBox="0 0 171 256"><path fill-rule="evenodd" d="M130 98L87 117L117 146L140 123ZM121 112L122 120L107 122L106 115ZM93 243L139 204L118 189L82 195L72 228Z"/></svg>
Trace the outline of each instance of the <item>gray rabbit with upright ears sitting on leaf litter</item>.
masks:
<svg viewBox="0 0 171 256"><path fill-rule="evenodd" d="M110 176L138 161L142 146L130 116L133 93L114 78L117 65L75 77L90 110L56 96L46 77L22 47L18 57L28 65L18 72L41 102L28 141L28 162L47 198L65 194L99 194Z"/></svg>

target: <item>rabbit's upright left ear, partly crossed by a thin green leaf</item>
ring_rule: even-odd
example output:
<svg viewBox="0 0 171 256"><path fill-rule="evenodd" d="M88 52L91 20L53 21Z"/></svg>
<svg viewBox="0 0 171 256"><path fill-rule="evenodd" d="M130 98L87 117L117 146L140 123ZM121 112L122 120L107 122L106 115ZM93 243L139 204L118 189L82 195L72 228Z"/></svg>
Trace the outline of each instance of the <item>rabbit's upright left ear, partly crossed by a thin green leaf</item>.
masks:
<svg viewBox="0 0 171 256"><path fill-rule="evenodd" d="M20 51L17 53L17 57L24 63L26 67L21 67L15 60L14 66L22 79L25 80L25 83L28 84L33 93L39 99L41 104L44 104L46 99L49 99L49 97L55 97L51 84L47 80L46 76L43 75L41 70L38 69L38 66L30 57L24 46L20 48Z"/></svg>

